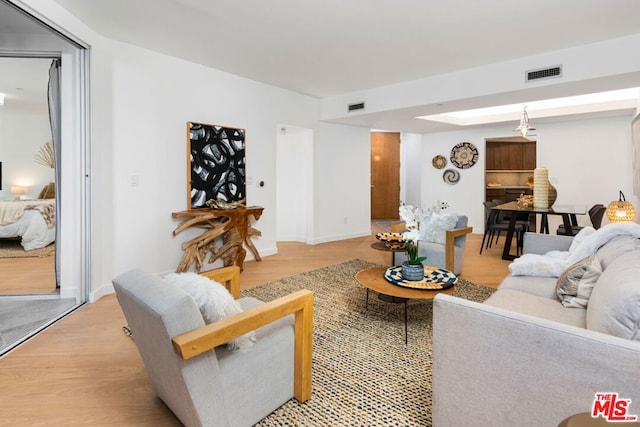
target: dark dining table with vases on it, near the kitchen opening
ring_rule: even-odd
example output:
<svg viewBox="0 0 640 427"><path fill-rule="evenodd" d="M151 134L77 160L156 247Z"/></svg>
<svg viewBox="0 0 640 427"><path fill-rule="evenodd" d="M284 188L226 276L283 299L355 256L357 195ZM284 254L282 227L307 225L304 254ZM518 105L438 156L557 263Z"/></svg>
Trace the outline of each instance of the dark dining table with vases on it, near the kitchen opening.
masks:
<svg viewBox="0 0 640 427"><path fill-rule="evenodd" d="M567 230L568 235L573 235L573 227L578 225L576 215L586 215L587 205L553 205L548 208L535 207L534 205L524 205L517 201L503 203L501 205L493 206L491 209L498 210L504 213L509 213L509 226L507 228L507 236L504 242L504 249L502 250L502 259L513 260L517 258L517 255L511 254L511 243L513 242L513 233L516 229L516 219L518 214L539 214L540 218L540 233L549 234L549 215L562 216L562 222L564 223L564 229Z"/></svg>

